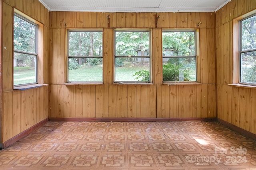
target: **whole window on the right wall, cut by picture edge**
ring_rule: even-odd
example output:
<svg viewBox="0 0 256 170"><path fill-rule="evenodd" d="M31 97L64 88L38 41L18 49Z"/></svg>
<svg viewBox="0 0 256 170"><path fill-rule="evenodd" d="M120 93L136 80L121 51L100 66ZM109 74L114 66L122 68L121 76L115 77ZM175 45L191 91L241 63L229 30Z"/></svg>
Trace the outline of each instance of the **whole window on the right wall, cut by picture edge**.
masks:
<svg viewBox="0 0 256 170"><path fill-rule="evenodd" d="M256 14L240 20L240 83L256 85Z"/></svg>

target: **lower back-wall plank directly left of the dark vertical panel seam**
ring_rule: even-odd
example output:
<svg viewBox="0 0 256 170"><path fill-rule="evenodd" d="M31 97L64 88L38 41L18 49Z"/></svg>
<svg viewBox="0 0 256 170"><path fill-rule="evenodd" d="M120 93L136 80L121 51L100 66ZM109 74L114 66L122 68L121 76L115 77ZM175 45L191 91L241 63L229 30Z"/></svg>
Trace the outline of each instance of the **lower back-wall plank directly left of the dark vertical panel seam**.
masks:
<svg viewBox="0 0 256 170"><path fill-rule="evenodd" d="M147 86L147 117L156 118L156 85Z"/></svg>

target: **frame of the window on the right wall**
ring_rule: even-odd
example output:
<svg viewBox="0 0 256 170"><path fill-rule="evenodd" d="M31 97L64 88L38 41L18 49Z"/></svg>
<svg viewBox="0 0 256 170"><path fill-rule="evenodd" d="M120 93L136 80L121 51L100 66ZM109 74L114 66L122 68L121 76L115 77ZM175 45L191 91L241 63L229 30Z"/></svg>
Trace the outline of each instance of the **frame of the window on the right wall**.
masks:
<svg viewBox="0 0 256 170"><path fill-rule="evenodd" d="M256 48L255 49L251 49L251 50L244 50L242 51L242 21L247 20L248 18L252 18L256 16L256 13L254 14L250 14L249 16L242 18L241 20L238 21L238 25L239 25L239 37L238 37L238 68L239 68L239 76L238 76L238 83L239 84L243 84L243 85L249 85L249 86L256 86L256 83L247 83L247 82L241 82L241 60L242 60L242 53L247 53L247 52L256 52Z"/></svg>

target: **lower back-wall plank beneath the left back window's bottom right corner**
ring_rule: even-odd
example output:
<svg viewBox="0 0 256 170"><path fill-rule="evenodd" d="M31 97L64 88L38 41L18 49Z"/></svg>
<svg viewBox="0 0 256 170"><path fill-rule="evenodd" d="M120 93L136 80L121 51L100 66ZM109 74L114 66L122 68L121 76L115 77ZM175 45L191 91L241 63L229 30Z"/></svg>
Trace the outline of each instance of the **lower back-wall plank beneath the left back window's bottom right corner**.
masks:
<svg viewBox="0 0 256 170"><path fill-rule="evenodd" d="M96 86L96 117L108 117L108 84Z"/></svg>

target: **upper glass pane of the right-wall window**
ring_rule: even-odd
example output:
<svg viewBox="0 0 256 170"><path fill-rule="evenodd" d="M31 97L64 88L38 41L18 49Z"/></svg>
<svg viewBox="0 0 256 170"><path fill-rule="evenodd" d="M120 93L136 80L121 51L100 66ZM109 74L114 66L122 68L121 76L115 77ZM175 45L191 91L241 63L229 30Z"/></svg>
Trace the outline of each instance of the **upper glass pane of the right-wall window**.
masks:
<svg viewBox="0 0 256 170"><path fill-rule="evenodd" d="M256 49L256 16L242 21L242 51Z"/></svg>

